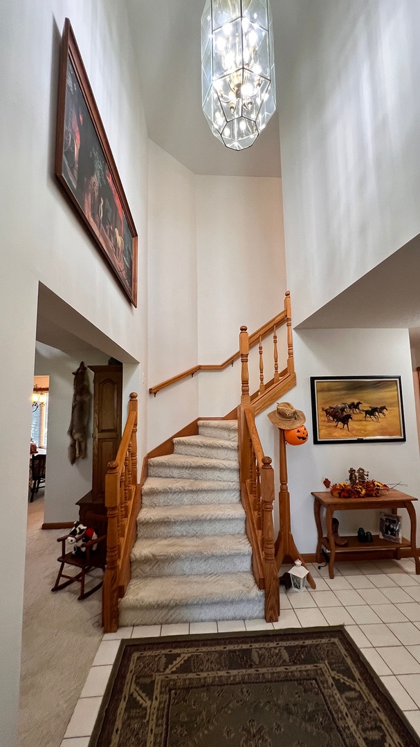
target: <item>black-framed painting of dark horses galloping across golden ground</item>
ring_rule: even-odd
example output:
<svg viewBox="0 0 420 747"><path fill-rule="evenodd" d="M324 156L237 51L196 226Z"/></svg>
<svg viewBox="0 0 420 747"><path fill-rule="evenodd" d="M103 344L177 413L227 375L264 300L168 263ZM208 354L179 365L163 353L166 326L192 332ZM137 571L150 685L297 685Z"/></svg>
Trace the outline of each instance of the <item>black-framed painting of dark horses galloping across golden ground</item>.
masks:
<svg viewBox="0 0 420 747"><path fill-rule="evenodd" d="M311 376L314 444L405 441L401 376Z"/></svg>

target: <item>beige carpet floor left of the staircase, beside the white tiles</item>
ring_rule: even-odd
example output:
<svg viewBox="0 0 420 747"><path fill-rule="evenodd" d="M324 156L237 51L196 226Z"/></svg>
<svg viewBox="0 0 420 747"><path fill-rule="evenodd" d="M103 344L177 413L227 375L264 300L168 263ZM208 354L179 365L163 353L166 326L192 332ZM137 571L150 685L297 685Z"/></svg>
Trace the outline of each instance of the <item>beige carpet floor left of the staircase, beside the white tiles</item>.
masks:
<svg viewBox="0 0 420 747"><path fill-rule="evenodd" d="M43 491L28 503L18 747L60 747L102 639L101 589L52 594L65 530L42 530ZM98 571L102 574L102 571Z"/></svg>

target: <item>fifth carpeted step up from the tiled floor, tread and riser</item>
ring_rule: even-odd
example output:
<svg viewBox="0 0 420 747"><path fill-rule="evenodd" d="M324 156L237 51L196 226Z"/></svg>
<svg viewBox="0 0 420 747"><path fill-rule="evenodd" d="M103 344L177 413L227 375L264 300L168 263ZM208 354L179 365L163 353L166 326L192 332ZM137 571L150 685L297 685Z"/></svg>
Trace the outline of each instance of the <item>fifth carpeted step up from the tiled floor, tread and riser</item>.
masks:
<svg viewBox="0 0 420 747"><path fill-rule="evenodd" d="M238 461L230 459L209 459L209 457L185 454L167 454L149 459L150 477L187 477L200 480L220 480L232 482L238 479ZM230 479L229 479L230 478Z"/></svg>

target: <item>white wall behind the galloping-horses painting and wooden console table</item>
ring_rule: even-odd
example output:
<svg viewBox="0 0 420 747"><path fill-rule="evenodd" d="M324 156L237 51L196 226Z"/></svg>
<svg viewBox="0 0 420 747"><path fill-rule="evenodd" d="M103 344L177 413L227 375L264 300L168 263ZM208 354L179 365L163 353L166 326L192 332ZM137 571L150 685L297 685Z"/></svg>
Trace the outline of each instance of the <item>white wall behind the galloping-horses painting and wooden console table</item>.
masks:
<svg viewBox="0 0 420 747"><path fill-rule="evenodd" d="M294 332L297 386L285 399L306 415L309 440L286 446L288 487L291 495L291 530L302 553L314 553L316 529L312 491L322 491L322 481L341 483L350 467L363 467L372 478L386 484L404 483L401 490L420 498L420 459L413 394L413 374L407 329L311 329ZM310 376L401 376L407 441L374 444L314 444ZM277 429L266 413L257 418L265 453L274 456L278 475ZM277 478L278 486L278 478ZM278 488L277 488L278 490ZM420 518L419 508L417 515ZM403 512L404 513L404 512ZM359 526L377 531L376 512L337 514L340 532L357 533ZM407 521L404 521L404 536ZM420 529L420 527L419 527ZM418 533L419 536L419 533Z"/></svg>

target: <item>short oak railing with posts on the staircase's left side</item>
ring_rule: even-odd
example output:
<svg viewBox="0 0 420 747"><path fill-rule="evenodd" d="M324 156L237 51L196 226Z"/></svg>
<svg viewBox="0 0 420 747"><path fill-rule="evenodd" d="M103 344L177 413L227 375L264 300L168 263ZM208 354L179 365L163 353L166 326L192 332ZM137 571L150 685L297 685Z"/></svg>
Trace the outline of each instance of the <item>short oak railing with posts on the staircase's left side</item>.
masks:
<svg viewBox="0 0 420 747"><path fill-rule="evenodd" d="M105 476L105 506L108 512L107 556L102 591L102 625L105 633L118 628L118 599L130 580L130 554L135 543L140 507L137 481L137 394L132 392L129 415L114 462Z"/></svg>

